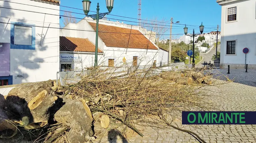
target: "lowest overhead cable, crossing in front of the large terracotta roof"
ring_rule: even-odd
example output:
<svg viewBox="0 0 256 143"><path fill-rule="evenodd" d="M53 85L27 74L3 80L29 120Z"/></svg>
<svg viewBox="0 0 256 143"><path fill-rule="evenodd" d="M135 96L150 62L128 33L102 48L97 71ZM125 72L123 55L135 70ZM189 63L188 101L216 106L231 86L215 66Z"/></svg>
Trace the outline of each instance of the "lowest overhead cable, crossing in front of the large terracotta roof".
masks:
<svg viewBox="0 0 256 143"><path fill-rule="evenodd" d="M5 24L12 24L12 23L6 23L6 22L0 22ZM31 26L26 24L17 24L17 25L23 25L23 26ZM44 27L44 26L35 26L35 27L42 27L42 28L53 28L53 29L66 29L66 30L76 30L76 31L88 31L88 32L95 32L90 30L80 30L80 29L67 29L67 28L57 28L57 27ZM118 33L118 32L105 32L105 31L99 31L100 33L115 33L115 34L134 34L134 35L149 35L149 34L138 34L138 33ZM156 34L156 35L170 35L170 34ZM181 34L172 34L172 35L181 35Z"/></svg>

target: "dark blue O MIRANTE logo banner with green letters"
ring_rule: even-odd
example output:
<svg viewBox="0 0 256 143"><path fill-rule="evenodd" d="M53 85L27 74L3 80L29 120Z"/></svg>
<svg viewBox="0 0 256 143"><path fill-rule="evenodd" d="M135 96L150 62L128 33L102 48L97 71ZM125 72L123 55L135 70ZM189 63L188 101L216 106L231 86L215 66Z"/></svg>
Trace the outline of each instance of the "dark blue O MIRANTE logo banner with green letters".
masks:
<svg viewBox="0 0 256 143"><path fill-rule="evenodd" d="M182 111L182 124L256 124L255 117L252 111Z"/></svg>

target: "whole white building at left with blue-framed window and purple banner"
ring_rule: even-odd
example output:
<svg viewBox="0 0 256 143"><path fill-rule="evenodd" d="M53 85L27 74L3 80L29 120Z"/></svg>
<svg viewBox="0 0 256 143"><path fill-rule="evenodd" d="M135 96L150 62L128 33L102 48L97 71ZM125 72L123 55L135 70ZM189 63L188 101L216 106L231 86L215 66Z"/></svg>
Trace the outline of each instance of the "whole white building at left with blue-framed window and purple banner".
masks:
<svg viewBox="0 0 256 143"><path fill-rule="evenodd" d="M0 5L0 84L56 79L59 29L48 27L59 27L58 1L8 0Z"/></svg>

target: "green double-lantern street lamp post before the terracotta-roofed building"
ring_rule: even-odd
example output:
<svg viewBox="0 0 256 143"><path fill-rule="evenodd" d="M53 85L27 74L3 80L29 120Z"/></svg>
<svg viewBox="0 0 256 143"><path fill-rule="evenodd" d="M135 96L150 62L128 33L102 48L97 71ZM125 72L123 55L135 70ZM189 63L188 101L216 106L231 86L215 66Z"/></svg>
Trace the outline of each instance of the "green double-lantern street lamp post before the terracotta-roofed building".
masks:
<svg viewBox="0 0 256 143"><path fill-rule="evenodd" d="M114 0L106 0L106 5L108 8L109 12L105 12L105 13L99 13L100 11L100 6L99 3L97 5L97 14L93 14L93 15L88 15L88 13L90 12L90 7L91 7L91 1L90 0L83 0L82 4L83 4L83 10L84 10L84 14L87 17L91 17L93 20L96 20L96 42L95 42L95 59L94 59L94 67L98 66L98 33L99 33L99 19L102 19L105 15L110 14L110 12L113 9L113 3Z"/></svg>

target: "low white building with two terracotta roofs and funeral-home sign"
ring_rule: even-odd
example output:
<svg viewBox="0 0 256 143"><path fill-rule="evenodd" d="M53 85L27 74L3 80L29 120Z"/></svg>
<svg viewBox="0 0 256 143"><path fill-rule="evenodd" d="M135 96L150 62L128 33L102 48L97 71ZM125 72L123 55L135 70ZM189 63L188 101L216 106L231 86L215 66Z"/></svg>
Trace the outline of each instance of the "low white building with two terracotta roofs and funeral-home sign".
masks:
<svg viewBox="0 0 256 143"><path fill-rule="evenodd" d="M86 30L70 30L86 29ZM96 21L91 18L85 18L78 23L69 23L65 29L60 31L61 39L68 39L73 44L65 44L60 41L60 56L76 55L80 58L75 64L72 60L69 67L73 69L91 67L94 64ZM73 37L73 40L72 38ZM76 40L86 39L89 45L80 46ZM84 40L85 41L85 40ZM80 46L80 48L79 48ZM90 47L90 48L89 48ZM83 49L82 49L83 48ZM76 49L76 50L74 50ZM90 49L90 50L89 50ZM156 60L156 66L165 65L168 62L167 51L159 49L149 38L147 38L139 27L126 25L119 22L100 20L99 38L98 38L98 65L119 67L123 64L135 64L138 66L152 66ZM89 53L88 53L89 52ZM64 55L63 55L64 54ZM79 56L79 54L81 56ZM160 55L159 55L160 54ZM161 58L160 58L161 57ZM86 62L84 62L86 61ZM61 66L68 64L65 61L60 62ZM82 65L82 66L81 66Z"/></svg>

